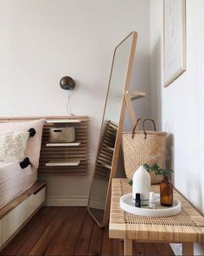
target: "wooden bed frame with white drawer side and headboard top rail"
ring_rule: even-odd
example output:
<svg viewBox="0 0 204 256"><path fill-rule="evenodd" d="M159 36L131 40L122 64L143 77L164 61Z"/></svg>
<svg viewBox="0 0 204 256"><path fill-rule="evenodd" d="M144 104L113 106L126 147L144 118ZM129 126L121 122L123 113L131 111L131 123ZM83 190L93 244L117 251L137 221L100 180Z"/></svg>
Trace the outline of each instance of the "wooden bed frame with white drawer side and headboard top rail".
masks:
<svg viewBox="0 0 204 256"><path fill-rule="evenodd" d="M0 122L29 121L35 118L0 118ZM45 201L46 182L36 181L22 194L0 209L0 251L35 215Z"/></svg>

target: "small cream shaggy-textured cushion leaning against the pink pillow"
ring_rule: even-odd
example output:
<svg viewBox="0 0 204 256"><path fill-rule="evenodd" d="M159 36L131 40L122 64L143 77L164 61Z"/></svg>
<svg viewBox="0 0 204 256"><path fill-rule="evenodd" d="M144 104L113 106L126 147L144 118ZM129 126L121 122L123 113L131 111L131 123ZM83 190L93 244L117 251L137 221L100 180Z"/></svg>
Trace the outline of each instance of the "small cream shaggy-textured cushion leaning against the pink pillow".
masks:
<svg viewBox="0 0 204 256"><path fill-rule="evenodd" d="M22 161L28 138L29 133L22 131L0 134L0 161Z"/></svg>

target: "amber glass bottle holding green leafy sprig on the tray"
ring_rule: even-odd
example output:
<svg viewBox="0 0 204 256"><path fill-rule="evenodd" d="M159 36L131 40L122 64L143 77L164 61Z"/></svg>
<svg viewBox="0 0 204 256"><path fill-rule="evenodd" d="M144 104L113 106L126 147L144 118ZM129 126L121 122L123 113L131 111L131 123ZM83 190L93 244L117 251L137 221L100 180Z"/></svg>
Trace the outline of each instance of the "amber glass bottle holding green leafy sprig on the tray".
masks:
<svg viewBox="0 0 204 256"><path fill-rule="evenodd" d="M143 167L150 172L154 172L156 175L162 175L163 181L160 182L160 203L164 207L172 207L173 199L173 184L169 181L169 176L173 173L173 170L168 168L161 168L157 164L150 166L147 163L143 164ZM129 181L132 185L132 181Z"/></svg>

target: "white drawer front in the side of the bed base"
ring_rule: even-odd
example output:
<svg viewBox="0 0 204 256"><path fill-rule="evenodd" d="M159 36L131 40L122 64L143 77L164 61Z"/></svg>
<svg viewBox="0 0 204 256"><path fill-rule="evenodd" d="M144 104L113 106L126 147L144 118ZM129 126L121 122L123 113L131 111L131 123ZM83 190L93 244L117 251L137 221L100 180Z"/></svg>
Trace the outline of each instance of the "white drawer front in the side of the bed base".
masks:
<svg viewBox="0 0 204 256"><path fill-rule="evenodd" d="M45 200L45 187L37 194L31 194L2 219L2 245L26 221L30 214Z"/></svg>

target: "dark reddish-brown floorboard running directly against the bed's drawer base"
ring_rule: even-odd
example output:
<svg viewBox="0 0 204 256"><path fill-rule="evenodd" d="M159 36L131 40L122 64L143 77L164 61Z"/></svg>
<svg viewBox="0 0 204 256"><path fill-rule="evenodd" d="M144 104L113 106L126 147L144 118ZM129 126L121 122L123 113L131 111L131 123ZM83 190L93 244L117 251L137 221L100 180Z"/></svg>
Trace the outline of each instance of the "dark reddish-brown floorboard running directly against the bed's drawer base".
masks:
<svg viewBox="0 0 204 256"><path fill-rule="evenodd" d="M35 213L34 217L29 220L26 226L22 227L20 233L10 241L8 246L5 246L0 255L15 255L16 252L23 246L24 242L28 239L29 235L34 231L36 226L40 223L41 220L46 218L48 212L51 211L51 207L41 207L41 209Z"/></svg>

